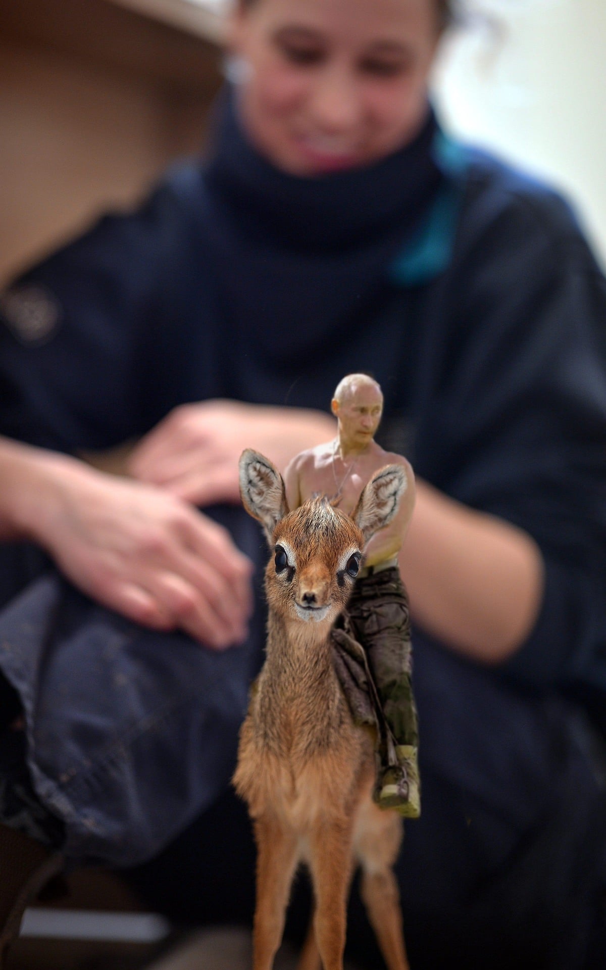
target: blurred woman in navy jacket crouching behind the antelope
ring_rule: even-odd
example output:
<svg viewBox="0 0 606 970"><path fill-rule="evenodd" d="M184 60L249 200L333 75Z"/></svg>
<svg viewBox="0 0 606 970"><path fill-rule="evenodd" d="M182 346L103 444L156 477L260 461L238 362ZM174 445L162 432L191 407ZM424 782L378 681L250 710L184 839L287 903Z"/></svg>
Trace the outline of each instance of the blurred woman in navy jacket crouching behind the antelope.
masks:
<svg viewBox="0 0 606 970"><path fill-rule="evenodd" d="M558 197L441 133L427 85L449 13L440 0L241 4L230 32L236 82L207 162L175 169L143 210L103 220L5 300L16 339L2 346L13 394L3 430L72 453L141 439L134 478L185 503L230 502L242 447L284 464L326 437L327 418L284 404L324 408L344 373L372 372L385 393L381 443L418 476L401 560L416 623L424 786L399 868L411 961L526 959L569 970L589 965L605 871L602 794L584 748L594 736L582 719L599 714L604 683L606 294ZM23 338L16 312L40 294L58 307L45 342ZM104 507L110 483L95 482ZM74 507L88 508L79 491ZM132 536L138 516L127 506L122 497L113 507ZM213 514L258 559L239 512ZM120 531L112 535L115 548ZM78 582L70 556L56 558ZM141 570L131 583L146 617L132 600L102 600L201 637L191 598L174 593L183 566L161 560L160 584ZM203 560L213 566L212 553ZM223 610L220 627L215 571L185 579L214 603L215 645L239 638L245 610L227 629ZM81 585L99 598L94 581ZM67 619L54 631L35 716L27 672L41 668L40 643L19 642L25 664L15 651L0 659L30 737L55 742L44 764L40 747L37 758L30 750L29 770L65 826L63 852L132 864L227 780L260 625L253 618L243 648L192 652L179 634L125 626L47 585L5 612L5 642L32 612L48 619L59 596ZM108 657L116 631L120 651ZM100 655L106 727L86 747L74 711L96 713L99 691L81 684L92 668L99 676ZM127 695L122 716L124 657L129 675L137 671L127 680L144 690ZM210 700L229 700L205 721L207 683ZM70 697L63 721L59 684ZM155 727L167 697L164 727L145 733L149 710ZM133 734L139 747L125 740ZM117 783L114 748L128 753ZM203 919L241 918L250 903L234 887L242 843L228 836L211 864L213 819L220 829L233 813L229 799L215 801L197 829L202 875L188 891L202 895ZM191 861L191 835L144 868L147 887L154 874L160 882L158 866L171 885L175 859ZM244 875L236 882L249 885Z"/></svg>

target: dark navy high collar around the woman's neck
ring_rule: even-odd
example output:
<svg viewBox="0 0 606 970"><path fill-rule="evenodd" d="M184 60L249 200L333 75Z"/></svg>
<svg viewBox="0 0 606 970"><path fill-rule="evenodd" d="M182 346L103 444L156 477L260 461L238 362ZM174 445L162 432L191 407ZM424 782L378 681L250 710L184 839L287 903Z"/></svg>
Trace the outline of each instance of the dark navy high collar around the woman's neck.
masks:
<svg viewBox="0 0 606 970"><path fill-rule="evenodd" d="M232 89L221 101L207 181L238 211L240 229L253 238L316 253L371 245L416 222L439 182L431 107L414 141L379 162L303 178L276 168L251 144Z"/></svg>

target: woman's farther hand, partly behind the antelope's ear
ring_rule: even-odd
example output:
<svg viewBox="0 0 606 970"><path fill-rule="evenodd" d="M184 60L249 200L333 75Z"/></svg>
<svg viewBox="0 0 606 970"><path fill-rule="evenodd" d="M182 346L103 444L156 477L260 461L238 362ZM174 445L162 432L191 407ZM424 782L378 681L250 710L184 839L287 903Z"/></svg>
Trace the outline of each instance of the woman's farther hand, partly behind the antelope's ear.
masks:
<svg viewBox="0 0 606 970"><path fill-rule="evenodd" d="M335 421L321 411L235 401L183 404L135 447L128 470L195 505L238 502L244 448L284 469L304 448L333 436Z"/></svg>

